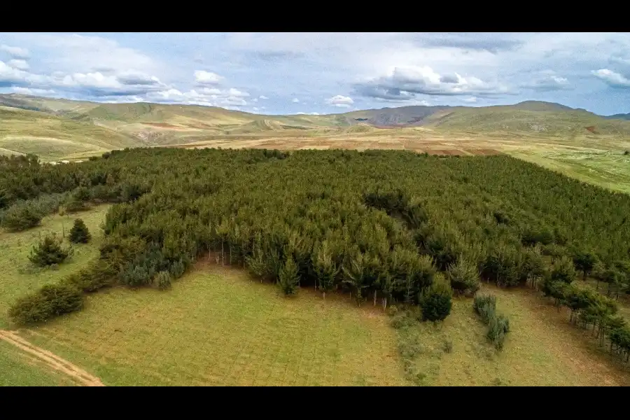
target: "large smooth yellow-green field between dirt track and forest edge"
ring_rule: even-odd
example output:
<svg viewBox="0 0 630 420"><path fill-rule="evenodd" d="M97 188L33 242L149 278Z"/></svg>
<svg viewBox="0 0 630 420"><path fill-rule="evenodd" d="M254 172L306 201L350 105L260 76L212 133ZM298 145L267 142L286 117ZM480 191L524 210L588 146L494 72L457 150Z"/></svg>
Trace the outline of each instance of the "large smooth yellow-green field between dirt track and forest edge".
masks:
<svg viewBox="0 0 630 420"><path fill-rule="evenodd" d="M21 334L106 385L405 384L386 316L308 290L287 299L237 269L104 290Z"/></svg>

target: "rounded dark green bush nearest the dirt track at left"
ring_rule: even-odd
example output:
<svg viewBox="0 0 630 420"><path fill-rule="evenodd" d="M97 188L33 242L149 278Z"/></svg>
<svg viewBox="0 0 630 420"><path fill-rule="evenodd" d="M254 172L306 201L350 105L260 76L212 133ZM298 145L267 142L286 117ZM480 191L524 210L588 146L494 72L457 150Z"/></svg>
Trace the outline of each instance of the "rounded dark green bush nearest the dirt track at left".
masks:
<svg viewBox="0 0 630 420"><path fill-rule="evenodd" d="M9 309L10 318L20 325L47 321L83 307L81 291L69 284L48 284L18 299Z"/></svg>

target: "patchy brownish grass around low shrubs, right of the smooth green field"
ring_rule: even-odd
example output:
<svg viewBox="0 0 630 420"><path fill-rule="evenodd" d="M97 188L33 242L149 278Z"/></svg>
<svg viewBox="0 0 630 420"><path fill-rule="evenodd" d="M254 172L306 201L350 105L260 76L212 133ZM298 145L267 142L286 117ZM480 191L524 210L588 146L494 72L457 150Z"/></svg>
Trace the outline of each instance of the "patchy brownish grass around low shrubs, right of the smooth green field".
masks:
<svg viewBox="0 0 630 420"><path fill-rule="evenodd" d="M485 286L485 285L484 285ZM617 367L582 330L532 290L485 286L497 309L510 318L503 351L487 342L486 326L472 300L454 299L443 324L398 330L403 348L416 346L410 370L416 383L435 386L628 386L630 373Z"/></svg>

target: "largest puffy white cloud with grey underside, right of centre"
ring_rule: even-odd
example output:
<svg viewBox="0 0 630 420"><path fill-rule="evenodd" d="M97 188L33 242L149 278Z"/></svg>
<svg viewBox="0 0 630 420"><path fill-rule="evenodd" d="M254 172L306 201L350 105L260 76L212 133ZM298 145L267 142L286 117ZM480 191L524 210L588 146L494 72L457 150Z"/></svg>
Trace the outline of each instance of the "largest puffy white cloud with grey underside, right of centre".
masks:
<svg viewBox="0 0 630 420"><path fill-rule="evenodd" d="M365 97L394 101L415 99L416 94L493 96L510 93L505 85L487 83L474 76L463 77L458 73L440 75L429 66L394 67L386 76L357 83L355 89Z"/></svg>

